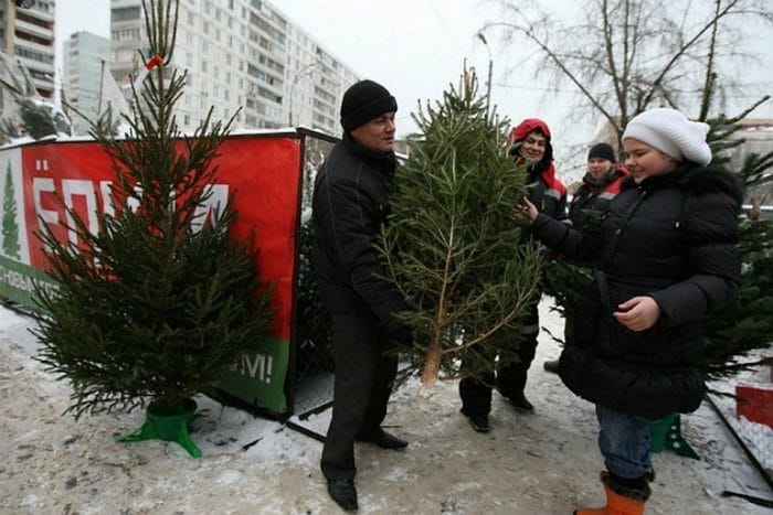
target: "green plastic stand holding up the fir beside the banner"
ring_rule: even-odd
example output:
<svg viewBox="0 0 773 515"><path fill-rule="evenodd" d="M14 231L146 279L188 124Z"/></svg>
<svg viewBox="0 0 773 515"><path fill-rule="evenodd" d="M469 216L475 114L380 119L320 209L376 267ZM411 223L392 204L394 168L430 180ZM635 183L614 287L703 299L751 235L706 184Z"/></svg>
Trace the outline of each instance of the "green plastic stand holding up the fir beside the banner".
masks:
<svg viewBox="0 0 773 515"><path fill-rule="evenodd" d="M188 426L195 415L195 400L186 399L182 404L166 408L155 400L148 406L142 427L116 438L119 442L138 442L146 440L163 440L177 442L193 458L201 458L201 451L188 434Z"/></svg>

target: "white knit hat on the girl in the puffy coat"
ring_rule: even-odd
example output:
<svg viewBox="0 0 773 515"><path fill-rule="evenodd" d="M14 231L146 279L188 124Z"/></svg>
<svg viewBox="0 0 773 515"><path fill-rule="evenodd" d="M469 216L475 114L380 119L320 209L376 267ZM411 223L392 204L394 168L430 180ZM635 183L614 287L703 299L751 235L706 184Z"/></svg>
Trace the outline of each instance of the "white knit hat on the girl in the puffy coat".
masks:
<svg viewBox="0 0 773 515"><path fill-rule="evenodd" d="M691 121L681 111L659 107L631 119L623 139L636 139L670 155L677 161L701 165L711 162L711 149L706 142L709 126Z"/></svg>

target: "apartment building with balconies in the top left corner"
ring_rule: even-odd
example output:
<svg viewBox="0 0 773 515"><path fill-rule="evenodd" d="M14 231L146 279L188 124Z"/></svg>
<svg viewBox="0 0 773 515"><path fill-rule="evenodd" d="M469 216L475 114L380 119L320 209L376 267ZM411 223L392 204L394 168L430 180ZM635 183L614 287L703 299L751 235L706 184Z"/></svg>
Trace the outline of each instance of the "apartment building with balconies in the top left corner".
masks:
<svg viewBox="0 0 773 515"><path fill-rule="evenodd" d="M19 61L43 98L54 97L55 0L0 1L0 45Z"/></svg>

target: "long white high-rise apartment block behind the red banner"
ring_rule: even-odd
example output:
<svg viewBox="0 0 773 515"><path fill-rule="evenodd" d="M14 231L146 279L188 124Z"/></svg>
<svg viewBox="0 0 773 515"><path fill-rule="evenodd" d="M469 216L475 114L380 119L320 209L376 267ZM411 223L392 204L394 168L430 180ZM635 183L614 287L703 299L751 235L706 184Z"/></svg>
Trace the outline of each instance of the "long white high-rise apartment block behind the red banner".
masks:
<svg viewBox="0 0 773 515"><path fill-rule="evenodd" d="M128 86L147 54L140 0L110 0L112 71ZM337 135L353 71L262 0L181 0L172 66L188 72L178 124L194 130L208 109L236 128L304 126Z"/></svg>

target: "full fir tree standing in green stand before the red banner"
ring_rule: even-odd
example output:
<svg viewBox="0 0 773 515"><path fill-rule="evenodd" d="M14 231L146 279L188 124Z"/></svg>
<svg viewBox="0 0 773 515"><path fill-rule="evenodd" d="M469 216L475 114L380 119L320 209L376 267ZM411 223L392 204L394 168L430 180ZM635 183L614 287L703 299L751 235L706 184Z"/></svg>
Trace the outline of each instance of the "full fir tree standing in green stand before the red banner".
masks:
<svg viewBox="0 0 773 515"><path fill-rule="evenodd" d="M180 135L172 112L186 75L167 68L178 2L144 0L142 9L161 64L134 92L126 140L110 125L92 129L113 162L116 213L97 213L93 234L70 211L76 244L52 228L40 235L59 290L35 292L38 358L72 384L76 418L148 399L173 411L268 336L252 237L234 240L231 201L207 210L231 121L211 124L210 109L192 137Z"/></svg>

